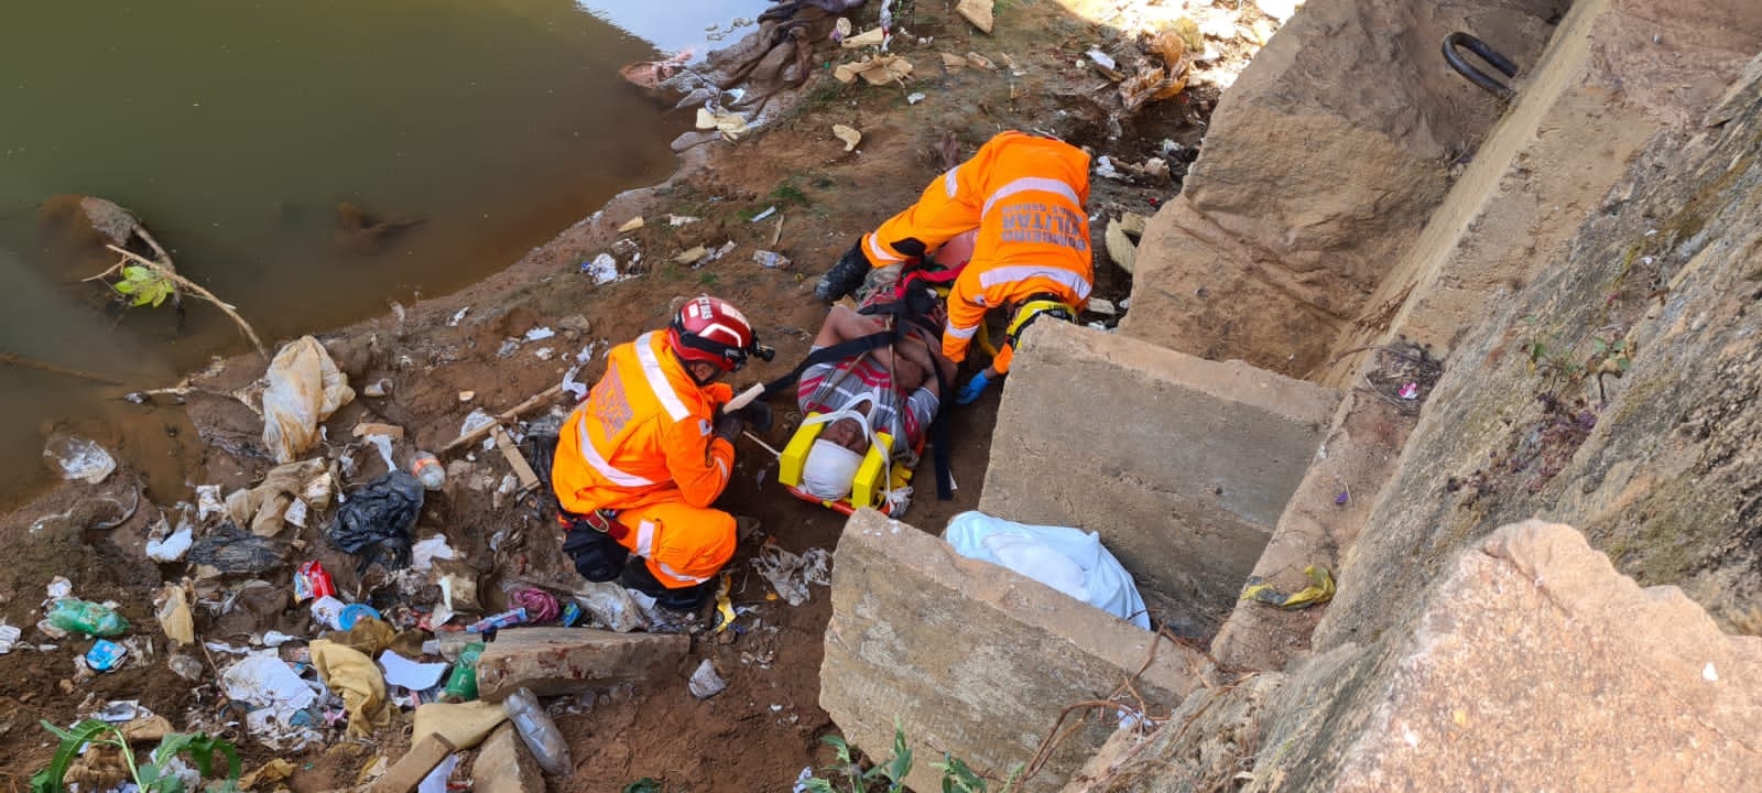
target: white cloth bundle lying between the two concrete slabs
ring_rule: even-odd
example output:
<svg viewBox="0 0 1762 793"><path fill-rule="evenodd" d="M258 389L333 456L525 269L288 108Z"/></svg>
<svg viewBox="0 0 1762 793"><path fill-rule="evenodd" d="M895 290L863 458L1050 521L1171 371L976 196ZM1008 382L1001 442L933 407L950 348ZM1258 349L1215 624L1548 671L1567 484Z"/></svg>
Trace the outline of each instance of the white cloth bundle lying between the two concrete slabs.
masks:
<svg viewBox="0 0 1762 793"><path fill-rule="evenodd" d="M1151 617L1131 573L1101 546L1101 536L1062 525L1025 525L966 511L943 539L962 557L1010 567L1145 631Z"/></svg>

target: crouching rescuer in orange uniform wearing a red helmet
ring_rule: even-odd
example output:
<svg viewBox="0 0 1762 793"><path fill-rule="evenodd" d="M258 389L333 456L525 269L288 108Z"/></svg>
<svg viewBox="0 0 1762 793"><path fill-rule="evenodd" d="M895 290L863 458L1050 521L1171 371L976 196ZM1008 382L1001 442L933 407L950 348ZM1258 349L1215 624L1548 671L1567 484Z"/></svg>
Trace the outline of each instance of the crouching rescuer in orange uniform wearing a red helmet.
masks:
<svg viewBox="0 0 1762 793"><path fill-rule="evenodd" d="M710 504L728 486L747 421L770 423L763 402L721 411L733 389L719 381L747 356L770 359L772 351L747 317L710 296L606 356L606 375L564 421L552 463L564 552L587 580L622 576L685 611L714 594L737 530L735 518ZM636 562L631 555L641 564L627 564Z"/></svg>

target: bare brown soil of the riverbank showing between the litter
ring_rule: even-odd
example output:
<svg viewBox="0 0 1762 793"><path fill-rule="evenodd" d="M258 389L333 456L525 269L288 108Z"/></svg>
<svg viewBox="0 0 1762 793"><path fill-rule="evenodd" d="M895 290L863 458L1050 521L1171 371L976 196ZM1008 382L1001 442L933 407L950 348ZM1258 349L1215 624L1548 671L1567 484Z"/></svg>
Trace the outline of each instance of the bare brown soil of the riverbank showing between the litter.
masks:
<svg viewBox="0 0 1762 793"><path fill-rule="evenodd" d="M324 335L358 389L382 377L393 382L389 396L361 396L326 423L326 453L349 453L361 463L347 488L384 469L377 455L352 442L349 430L356 423L403 426L409 441L400 446L400 455L440 448L458 435L470 409L500 412L527 400L559 382L576 351L659 328L673 300L703 291L740 305L754 317L761 338L779 349L775 363L749 368L742 379L784 372L805 354L825 314L825 307L811 298L812 280L858 234L913 201L943 169L937 146L944 134L953 134L960 157L971 155L1003 129L1057 134L1115 162L1142 166L1161 157L1170 167L1168 176L1096 178L1092 183L1089 210L1098 252L1096 296L1121 303L1131 284L1129 275L1105 256L1107 220L1122 211L1154 213L1181 190L1181 174L1196 157L1218 85L1226 83L1276 26L1251 4L1240 11L1233 2L1205 7L1205 14L1235 21L1232 30L1237 35L1207 41L1218 56L1195 69L1195 81L1184 93L1124 115L1114 81L1085 62L1084 53L1101 48L1122 69L1142 62L1145 49L1140 42L1145 37L1136 33L1135 14L1145 12L1151 4L999 4L997 26L988 37L974 32L944 4L897 5L904 5L895 14L909 35L895 37L893 51L914 65L909 85L840 85L832 79L830 69L818 69L795 97L795 107L779 113L763 130L738 143L717 141L687 152L682 171L670 183L620 196L603 213L532 250L502 275L409 307L402 315ZM1124 12L1121 5L1126 5ZM874 26L874 9L860 11L858 30ZM969 51L996 67L943 65L941 53ZM855 56L821 44L814 63L828 67L848 60ZM913 92L922 92L923 100L913 104L907 99ZM862 145L844 152L830 132L832 123L860 129ZM770 206L779 210L772 219L747 220ZM638 215L647 220L641 229L617 233ZM671 226L670 215L698 220ZM777 217L782 217L781 234ZM719 261L701 268L671 263L682 250L696 245L715 248L724 241L737 247ZM768 270L754 264L751 256L759 248L786 254L793 266ZM580 264L601 252L617 256L629 278L594 285L583 277ZM633 266L634 252L641 252L641 261ZM460 312L463 317L453 322ZM1115 321L1107 315L1084 319ZM499 356L506 340L541 326L559 335L523 342L513 354ZM541 347L550 347L553 356L541 358ZM157 566L143 553L148 523L159 515L159 506L190 499L189 486L197 483L226 490L248 486L270 467L261 446L261 419L229 396L263 372L261 359L233 359L220 372L194 377L196 389L187 396L160 396L153 407L141 407L123 421L129 426L93 428L100 439L123 432L166 437L181 451L127 460L100 486L56 488L0 522L0 539L21 562L0 567L0 613L9 624L26 626L26 643L49 641L28 626L41 619L44 585L62 574L72 580L81 597L118 601L136 626L130 636L141 645L137 656L150 657L120 671L76 680L74 657L90 641L69 640L55 650L0 656L0 740L11 747L0 752L5 756L0 760L5 784L23 784L51 751L37 719L67 724L106 700L141 700L180 728L206 724L224 730L240 740L250 761L275 756L241 735L241 705L227 703L211 684L215 675L208 664L220 661L224 666L224 657L210 659L197 650L194 657L208 666L208 675L197 684L167 670L169 648L153 620L150 590L160 580L180 580L187 571L181 564ZM581 374L589 382L597 375L597 361ZM470 402L460 400L462 391L474 391ZM996 400L994 391L978 405L953 414L957 499L937 502L923 493L906 520L939 530L950 515L978 500ZM777 400L774 407L784 421L768 442L781 446L798 416L791 414L789 400ZM562 402L555 411L562 411ZM166 460L173 462L169 471ZM448 488L428 500L416 536L444 532L453 546L465 552L467 564L483 576L486 610L500 606L497 582L516 576L567 578L557 552L557 532L530 499L504 504L490 488L479 488L485 483L493 488L509 471L499 455L478 449L448 462ZM763 537L786 550L832 550L842 518L789 499L775 485L772 469L770 455L744 442L722 504L737 515L759 518ZM107 530L93 529L116 518L118 506L104 499L127 506L136 492L146 497L130 520ZM67 515L58 516L62 513ZM42 520L46 516L49 520ZM314 525L326 520L328 515ZM497 536L500 539L492 550L490 541ZM298 539L307 543L300 559L322 559L340 590L354 594L358 587L377 582L361 582L352 559L329 548L322 532L308 529ZM758 543L744 546L731 566L737 571L733 603L751 611L742 615L733 633L696 634L671 684L601 691L553 707L569 738L576 772L567 781L553 779L552 789L622 789L641 777L663 781L668 791L788 789L803 767L830 760L819 738L835 726L818 707L821 633L830 608L826 592L816 589L814 597L796 608L775 599L749 566L756 548ZM264 580L275 585L275 592L285 594L287 569L268 573ZM197 610L197 631L208 640L241 643L266 629L312 634L305 610L277 596L226 615ZM685 680L705 657L729 687L710 700L696 700L687 693ZM308 749L294 758L300 770L289 784L298 791L352 784L377 754L402 754L407 733L407 712L396 714L393 726L370 742L344 740L338 730L329 749Z"/></svg>

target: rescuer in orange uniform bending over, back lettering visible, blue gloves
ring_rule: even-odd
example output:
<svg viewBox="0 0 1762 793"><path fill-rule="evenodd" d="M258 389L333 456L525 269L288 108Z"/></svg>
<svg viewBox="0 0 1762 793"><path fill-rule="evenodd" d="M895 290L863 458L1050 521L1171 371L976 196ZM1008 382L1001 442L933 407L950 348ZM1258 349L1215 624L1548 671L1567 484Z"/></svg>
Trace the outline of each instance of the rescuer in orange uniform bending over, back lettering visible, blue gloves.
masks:
<svg viewBox="0 0 1762 793"><path fill-rule="evenodd" d="M1001 132L930 182L916 204L858 240L819 278L814 296L842 298L862 285L870 268L909 266L953 236L980 229L973 259L948 294L943 354L966 359L987 310L1006 307L1011 317L997 358L955 396L966 405L1010 372L1015 338L1029 322L1041 315L1075 322L1089 303L1094 268L1087 201L1087 153L1050 137Z"/></svg>

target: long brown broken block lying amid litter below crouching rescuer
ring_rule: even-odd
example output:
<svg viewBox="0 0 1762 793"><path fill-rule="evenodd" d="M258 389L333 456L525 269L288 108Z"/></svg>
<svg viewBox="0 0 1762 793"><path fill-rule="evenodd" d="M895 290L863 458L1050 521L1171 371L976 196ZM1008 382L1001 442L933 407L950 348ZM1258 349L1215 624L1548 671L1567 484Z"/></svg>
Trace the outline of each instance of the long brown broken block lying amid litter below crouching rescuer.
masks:
<svg viewBox="0 0 1762 793"><path fill-rule="evenodd" d="M557 696L678 671L684 634L592 627L509 627L478 659L478 696L502 701L522 686Z"/></svg>

